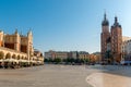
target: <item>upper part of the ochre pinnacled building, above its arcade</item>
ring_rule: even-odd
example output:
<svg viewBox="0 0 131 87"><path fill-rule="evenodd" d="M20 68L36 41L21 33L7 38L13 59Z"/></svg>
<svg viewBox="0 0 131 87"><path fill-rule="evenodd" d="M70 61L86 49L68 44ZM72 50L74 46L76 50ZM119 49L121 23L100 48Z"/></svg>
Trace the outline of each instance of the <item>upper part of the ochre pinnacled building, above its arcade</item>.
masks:
<svg viewBox="0 0 131 87"><path fill-rule="evenodd" d="M17 30L15 30L15 33L12 35L0 32L0 47L32 55L34 53L32 32L29 30L27 36L20 35Z"/></svg>

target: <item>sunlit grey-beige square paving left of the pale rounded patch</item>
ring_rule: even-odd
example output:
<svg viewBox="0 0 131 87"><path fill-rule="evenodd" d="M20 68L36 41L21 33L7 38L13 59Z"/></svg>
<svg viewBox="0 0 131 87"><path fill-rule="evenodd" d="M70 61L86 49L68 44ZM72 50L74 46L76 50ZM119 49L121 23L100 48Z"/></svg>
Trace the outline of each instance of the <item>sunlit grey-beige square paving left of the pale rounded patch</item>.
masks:
<svg viewBox="0 0 131 87"><path fill-rule="evenodd" d="M0 69L0 87L92 87L86 77L93 72L84 65L43 65L17 70Z"/></svg>

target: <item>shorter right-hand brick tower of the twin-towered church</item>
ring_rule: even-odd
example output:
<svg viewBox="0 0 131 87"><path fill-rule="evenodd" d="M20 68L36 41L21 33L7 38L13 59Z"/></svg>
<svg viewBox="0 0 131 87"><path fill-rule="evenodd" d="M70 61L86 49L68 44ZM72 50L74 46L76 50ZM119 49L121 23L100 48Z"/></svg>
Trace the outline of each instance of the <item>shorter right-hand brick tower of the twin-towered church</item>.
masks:
<svg viewBox="0 0 131 87"><path fill-rule="evenodd" d="M111 26L111 53L116 62L120 62L121 59L121 44L122 44L122 28L118 23L117 16L115 23Z"/></svg>

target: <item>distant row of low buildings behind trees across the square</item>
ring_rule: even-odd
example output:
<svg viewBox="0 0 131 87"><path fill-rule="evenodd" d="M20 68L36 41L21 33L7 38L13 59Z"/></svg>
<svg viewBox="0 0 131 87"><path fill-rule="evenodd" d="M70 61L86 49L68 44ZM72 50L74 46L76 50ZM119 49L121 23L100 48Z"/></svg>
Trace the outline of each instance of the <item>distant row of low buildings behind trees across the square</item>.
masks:
<svg viewBox="0 0 131 87"><path fill-rule="evenodd" d="M75 59L75 60L84 60L92 63L100 63L102 57L100 52L94 52L90 54L86 51L47 51L45 52L45 59Z"/></svg>

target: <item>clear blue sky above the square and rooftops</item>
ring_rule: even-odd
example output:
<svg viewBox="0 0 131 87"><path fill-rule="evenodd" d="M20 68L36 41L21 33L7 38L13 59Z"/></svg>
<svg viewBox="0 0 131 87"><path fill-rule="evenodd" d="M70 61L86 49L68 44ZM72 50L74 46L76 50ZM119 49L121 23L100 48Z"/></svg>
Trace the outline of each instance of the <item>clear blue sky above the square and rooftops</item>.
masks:
<svg viewBox="0 0 131 87"><path fill-rule="evenodd" d="M24 35L29 28L34 47L44 51L100 51L106 10L110 26L115 15L122 35L131 36L131 0L0 0L0 29Z"/></svg>

